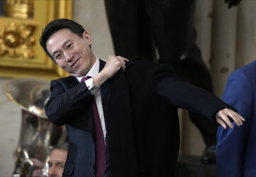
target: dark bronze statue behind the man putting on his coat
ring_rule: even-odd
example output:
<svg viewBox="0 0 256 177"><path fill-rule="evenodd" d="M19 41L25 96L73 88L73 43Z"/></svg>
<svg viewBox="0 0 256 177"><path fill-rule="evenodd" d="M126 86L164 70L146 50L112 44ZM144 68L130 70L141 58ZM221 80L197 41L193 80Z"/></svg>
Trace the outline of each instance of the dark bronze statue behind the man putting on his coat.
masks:
<svg viewBox="0 0 256 177"><path fill-rule="evenodd" d="M225 0L228 7L239 1ZM169 63L181 79L213 93L210 72L196 45L195 6L196 0L105 0L115 55ZM217 125L197 113L189 112L189 117L206 144L201 161L215 164Z"/></svg>

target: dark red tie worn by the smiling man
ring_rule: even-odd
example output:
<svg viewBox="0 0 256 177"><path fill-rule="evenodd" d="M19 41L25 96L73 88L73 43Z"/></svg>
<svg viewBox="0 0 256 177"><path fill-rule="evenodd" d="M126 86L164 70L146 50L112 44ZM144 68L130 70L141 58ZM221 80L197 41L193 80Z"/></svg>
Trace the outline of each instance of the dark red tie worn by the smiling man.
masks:
<svg viewBox="0 0 256 177"><path fill-rule="evenodd" d="M81 82L90 78L91 76L83 77ZM103 177L105 169L105 142L95 99L92 101L92 114L95 123L95 177Z"/></svg>

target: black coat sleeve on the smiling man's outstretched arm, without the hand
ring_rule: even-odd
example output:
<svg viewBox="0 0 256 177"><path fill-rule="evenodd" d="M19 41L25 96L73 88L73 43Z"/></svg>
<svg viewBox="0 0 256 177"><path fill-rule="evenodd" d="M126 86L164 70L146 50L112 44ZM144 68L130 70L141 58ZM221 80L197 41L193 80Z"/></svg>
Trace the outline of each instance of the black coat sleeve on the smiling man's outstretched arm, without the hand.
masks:
<svg viewBox="0 0 256 177"><path fill-rule="evenodd" d="M171 72L169 67L161 67L161 69L156 70L154 85L156 86L156 93L168 103L204 115L213 122L216 122L215 113L218 110L234 109L205 89L182 81L174 72Z"/></svg>

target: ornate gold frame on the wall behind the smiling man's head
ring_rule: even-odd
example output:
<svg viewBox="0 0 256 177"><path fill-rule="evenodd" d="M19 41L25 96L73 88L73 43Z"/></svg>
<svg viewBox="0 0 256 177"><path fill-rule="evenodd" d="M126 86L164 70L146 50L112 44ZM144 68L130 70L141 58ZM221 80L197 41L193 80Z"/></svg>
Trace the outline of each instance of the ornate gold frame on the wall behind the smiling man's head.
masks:
<svg viewBox="0 0 256 177"><path fill-rule="evenodd" d="M24 30L24 26L25 30L26 27L29 27L29 29L33 28L33 32L31 32L32 34L30 35L30 40L33 39L33 42L25 46L25 50L24 47L17 49L19 55L0 55L0 76L12 78L36 77L41 79L56 79L60 76L68 76L68 73L60 69L57 64L53 63L51 59L47 57L38 39L40 38L43 28L53 19L71 19L72 5L72 0L34 0L32 18L0 17L0 30L2 29L2 31L3 29L12 28L15 33L24 34L28 33L28 31L22 31ZM6 49L6 47L4 47L4 49ZM13 49L10 49L10 51L10 53L14 53ZM21 55L21 53L23 55ZM33 55L28 55L31 53L33 53Z"/></svg>

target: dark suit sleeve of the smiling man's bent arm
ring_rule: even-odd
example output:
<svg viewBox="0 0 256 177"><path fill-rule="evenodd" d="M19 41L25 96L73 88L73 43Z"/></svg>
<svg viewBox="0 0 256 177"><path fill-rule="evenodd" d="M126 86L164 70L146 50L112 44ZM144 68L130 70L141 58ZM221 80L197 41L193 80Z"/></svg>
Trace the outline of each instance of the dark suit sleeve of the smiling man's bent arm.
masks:
<svg viewBox="0 0 256 177"><path fill-rule="evenodd" d="M86 108L93 96L84 83L69 88L58 79L50 82L50 98L46 103L46 115L55 125L64 125L73 119L75 113Z"/></svg>

